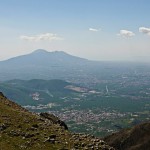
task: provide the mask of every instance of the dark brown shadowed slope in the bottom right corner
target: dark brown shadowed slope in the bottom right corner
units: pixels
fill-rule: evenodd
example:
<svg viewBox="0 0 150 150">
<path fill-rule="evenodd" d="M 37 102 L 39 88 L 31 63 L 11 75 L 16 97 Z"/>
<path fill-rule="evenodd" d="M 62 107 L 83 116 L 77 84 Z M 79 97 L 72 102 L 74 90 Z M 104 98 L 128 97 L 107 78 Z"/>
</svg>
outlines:
<svg viewBox="0 0 150 150">
<path fill-rule="evenodd" d="M 150 122 L 114 133 L 104 140 L 117 150 L 149 150 Z"/>
</svg>

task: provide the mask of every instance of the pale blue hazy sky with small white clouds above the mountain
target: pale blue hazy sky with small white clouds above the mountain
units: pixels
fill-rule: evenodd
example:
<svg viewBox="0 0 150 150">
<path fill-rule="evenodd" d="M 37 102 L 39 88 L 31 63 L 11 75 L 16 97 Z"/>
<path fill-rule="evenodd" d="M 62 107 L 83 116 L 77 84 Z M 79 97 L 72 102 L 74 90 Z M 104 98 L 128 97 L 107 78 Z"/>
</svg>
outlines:
<svg viewBox="0 0 150 150">
<path fill-rule="evenodd" d="M 39 48 L 150 60 L 150 0 L 0 0 L 0 60 Z"/>
</svg>

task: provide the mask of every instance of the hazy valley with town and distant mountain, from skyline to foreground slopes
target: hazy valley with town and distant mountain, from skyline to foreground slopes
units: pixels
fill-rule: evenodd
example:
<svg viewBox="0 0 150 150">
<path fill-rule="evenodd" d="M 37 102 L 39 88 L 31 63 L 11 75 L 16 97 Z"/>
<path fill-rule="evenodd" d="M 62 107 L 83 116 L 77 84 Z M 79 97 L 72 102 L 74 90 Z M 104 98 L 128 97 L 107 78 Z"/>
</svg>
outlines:
<svg viewBox="0 0 150 150">
<path fill-rule="evenodd" d="M 9 99 L 55 114 L 73 132 L 102 137 L 150 118 L 147 63 L 90 61 L 40 49 L 0 67 L 0 89 Z"/>
</svg>

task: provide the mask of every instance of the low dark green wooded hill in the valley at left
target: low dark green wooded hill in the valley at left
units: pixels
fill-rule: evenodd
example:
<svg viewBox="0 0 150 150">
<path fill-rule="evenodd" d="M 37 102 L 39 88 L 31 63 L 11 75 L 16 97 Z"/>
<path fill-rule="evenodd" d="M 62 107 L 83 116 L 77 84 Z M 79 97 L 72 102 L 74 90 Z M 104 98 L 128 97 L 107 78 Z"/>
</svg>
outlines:
<svg viewBox="0 0 150 150">
<path fill-rule="evenodd" d="M 69 83 L 62 80 L 11 80 L 0 83 L 0 90 L 20 105 L 47 104 L 49 101 L 57 101 L 61 96 L 71 94 L 64 87 Z M 39 101 L 33 99 L 33 94 L 39 94 Z"/>
</svg>

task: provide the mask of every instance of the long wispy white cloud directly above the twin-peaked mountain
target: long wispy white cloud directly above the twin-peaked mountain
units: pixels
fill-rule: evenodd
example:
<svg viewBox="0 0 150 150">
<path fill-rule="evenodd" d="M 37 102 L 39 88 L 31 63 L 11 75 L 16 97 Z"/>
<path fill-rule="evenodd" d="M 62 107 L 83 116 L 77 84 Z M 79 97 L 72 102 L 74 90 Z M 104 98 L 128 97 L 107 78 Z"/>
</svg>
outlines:
<svg viewBox="0 0 150 150">
<path fill-rule="evenodd" d="M 35 36 L 22 35 L 20 36 L 20 39 L 26 40 L 26 41 L 34 41 L 34 42 L 63 40 L 63 38 L 58 37 L 57 34 L 53 34 L 53 33 L 45 33 L 45 34 L 39 34 Z"/>
</svg>

